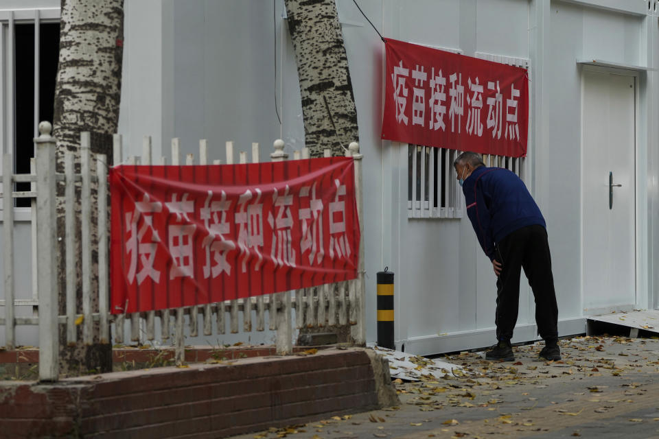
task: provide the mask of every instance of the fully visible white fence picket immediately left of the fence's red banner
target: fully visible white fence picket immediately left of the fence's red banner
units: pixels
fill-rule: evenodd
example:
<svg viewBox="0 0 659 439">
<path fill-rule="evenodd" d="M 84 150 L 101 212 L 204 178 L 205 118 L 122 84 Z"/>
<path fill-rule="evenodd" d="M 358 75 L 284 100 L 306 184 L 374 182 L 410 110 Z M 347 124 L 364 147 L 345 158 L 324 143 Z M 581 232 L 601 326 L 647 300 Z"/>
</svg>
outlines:
<svg viewBox="0 0 659 439">
<path fill-rule="evenodd" d="M 108 293 L 108 158 L 105 154 L 96 157 L 98 181 L 98 313 L 100 314 L 100 342 L 110 342 L 110 296 Z"/>
</svg>

